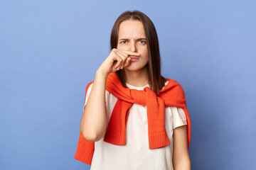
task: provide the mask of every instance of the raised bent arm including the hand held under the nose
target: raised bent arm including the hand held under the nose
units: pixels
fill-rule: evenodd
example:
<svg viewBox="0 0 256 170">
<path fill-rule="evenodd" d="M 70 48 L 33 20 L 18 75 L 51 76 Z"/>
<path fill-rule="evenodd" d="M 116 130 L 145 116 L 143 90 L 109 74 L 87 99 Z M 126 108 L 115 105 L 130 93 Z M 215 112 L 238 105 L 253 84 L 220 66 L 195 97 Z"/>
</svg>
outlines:
<svg viewBox="0 0 256 170">
<path fill-rule="evenodd" d="M 107 130 L 107 108 L 105 90 L 107 76 L 130 64 L 129 55 L 139 56 L 137 52 L 112 49 L 110 55 L 97 69 L 90 96 L 82 114 L 80 131 L 85 140 L 97 142 L 104 137 Z"/>
</svg>

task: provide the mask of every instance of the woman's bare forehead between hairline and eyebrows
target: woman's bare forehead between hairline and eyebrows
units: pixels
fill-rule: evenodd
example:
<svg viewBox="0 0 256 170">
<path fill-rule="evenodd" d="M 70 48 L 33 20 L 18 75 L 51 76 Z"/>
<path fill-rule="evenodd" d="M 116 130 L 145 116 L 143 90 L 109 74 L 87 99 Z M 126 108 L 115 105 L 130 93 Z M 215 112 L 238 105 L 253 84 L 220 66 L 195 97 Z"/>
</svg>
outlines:
<svg viewBox="0 0 256 170">
<path fill-rule="evenodd" d="M 119 38 L 129 38 L 129 37 L 138 37 L 138 38 L 146 38 L 144 26 L 141 21 L 122 21 L 119 26 L 118 31 Z"/>
</svg>

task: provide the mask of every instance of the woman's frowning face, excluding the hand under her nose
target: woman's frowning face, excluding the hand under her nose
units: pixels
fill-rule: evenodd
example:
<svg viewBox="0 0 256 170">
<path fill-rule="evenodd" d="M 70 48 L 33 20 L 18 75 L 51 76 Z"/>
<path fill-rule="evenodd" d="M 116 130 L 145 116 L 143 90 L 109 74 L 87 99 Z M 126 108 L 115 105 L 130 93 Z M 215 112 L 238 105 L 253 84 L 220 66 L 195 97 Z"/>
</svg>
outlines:
<svg viewBox="0 0 256 170">
<path fill-rule="evenodd" d="M 119 26 L 117 50 L 138 52 L 137 60 L 132 59 L 126 70 L 137 71 L 143 69 L 149 62 L 146 47 L 146 35 L 141 21 L 122 21 Z M 131 56 L 132 57 L 132 56 Z"/>
</svg>

